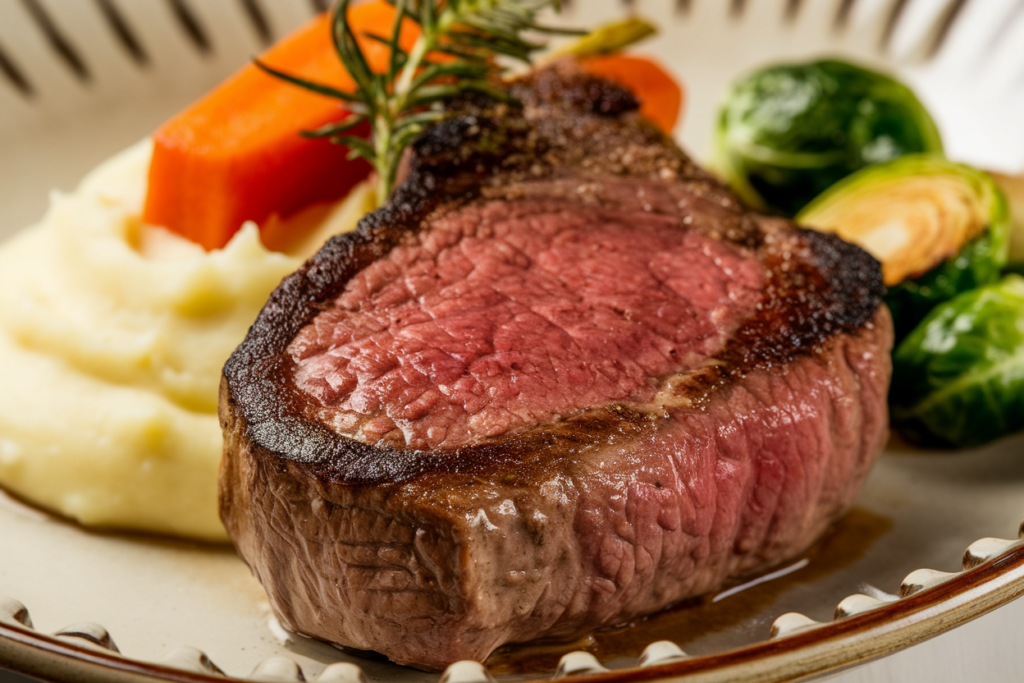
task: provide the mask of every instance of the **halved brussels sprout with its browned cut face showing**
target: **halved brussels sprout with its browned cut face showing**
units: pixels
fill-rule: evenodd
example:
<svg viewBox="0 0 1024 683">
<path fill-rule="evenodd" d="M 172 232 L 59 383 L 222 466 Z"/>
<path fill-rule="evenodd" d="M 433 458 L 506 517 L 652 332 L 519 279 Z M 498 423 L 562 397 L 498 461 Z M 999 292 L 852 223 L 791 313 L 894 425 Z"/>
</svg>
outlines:
<svg viewBox="0 0 1024 683">
<path fill-rule="evenodd" d="M 836 232 L 882 262 L 901 339 L 937 303 L 994 283 L 1010 216 L 992 178 L 934 155 L 870 166 L 827 189 L 797 220 Z"/>
</svg>

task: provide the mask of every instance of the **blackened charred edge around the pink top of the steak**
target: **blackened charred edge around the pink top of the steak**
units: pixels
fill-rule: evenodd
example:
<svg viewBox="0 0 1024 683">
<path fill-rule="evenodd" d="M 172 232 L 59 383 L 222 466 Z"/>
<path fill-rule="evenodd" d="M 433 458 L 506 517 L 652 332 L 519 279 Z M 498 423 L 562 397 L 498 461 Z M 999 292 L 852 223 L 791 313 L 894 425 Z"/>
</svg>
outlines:
<svg viewBox="0 0 1024 683">
<path fill-rule="evenodd" d="M 438 212 L 456 210 L 481 196 L 501 196 L 504 187 L 518 181 L 579 171 L 591 158 L 601 160 L 598 170 L 605 173 L 652 181 L 668 176 L 686 181 L 724 207 L 743 211 L 729 190 L 664 133 L 632 114 L 637 102 L 628 90 L 565 68 L 536 72 L 512 90 L 521 108 L 467 101 L 454 117 L 428 130 L 414 144 L 408 176 L 387 205 L 365 217 L 356 231 L 330 240 L 270 296 L 224 367 L 221 399 L 222 422 L 228 411 L 233 419 L 241 418 L 260 452 L 303 463 L 323 480 L 352 484 L 400 483 L 426 472 L 470 474 L 483 469 L 536 477 L 546 465 L 535 454 L 579 453 L 594 441 L 636 434 L 656 422 L 629 407 L 600 407 L 496 442 L 430 452 L 345 438 L 305 414 L 307 399 L 294 385 L 289 343 L 352 276 L 411 239 L 431 216 L 441 215 Z M 590 126 L 592 133 L 594 125 L 600 134 L 589 134 L 586 144 L 580 143 L 579 129 Z M 636 154 L 631 152 L 631 159 L 623 159 L 618 167 L 609 165 L 607 160 L 623 148 Z M 881 304 L 885 290 L 873 258 L 834 236 L 785 224 L 800 239 L 796 246 L 780 247 L 778 254 L 768 252 L 772 296 L 729 342 L 719 358 L 722 362 L 693 378 L 690 389 L 697 394 L 727 385 L 754 368 L 814 353 L 834 335 L 855 333 Z M 746 229 L 723 239 L 754 248 L 765 236 Z M 799 262 L 805 267 L 771 267 L 772 258 L 791 258 L 794 248 L 804 252 Z M 800 305 L 785 305 L 796 301 Z"/>
</svg>

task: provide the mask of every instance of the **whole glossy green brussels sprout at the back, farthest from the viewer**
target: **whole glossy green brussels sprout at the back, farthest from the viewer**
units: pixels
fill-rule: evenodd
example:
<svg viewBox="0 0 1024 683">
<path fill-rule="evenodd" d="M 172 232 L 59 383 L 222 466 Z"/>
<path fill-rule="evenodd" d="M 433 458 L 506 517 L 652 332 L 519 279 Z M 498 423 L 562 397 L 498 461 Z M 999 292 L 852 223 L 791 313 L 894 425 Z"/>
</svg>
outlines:
<svg viewBox="0 0 1024 683">
<path fill-rule="evenodd" d="M 715 165 L 752 206 L 794 215 L 868 164 L 941 153 L 935 123 L 904 85 L 835 60 L 771 67 L 733 85 Z"/>
</svg>

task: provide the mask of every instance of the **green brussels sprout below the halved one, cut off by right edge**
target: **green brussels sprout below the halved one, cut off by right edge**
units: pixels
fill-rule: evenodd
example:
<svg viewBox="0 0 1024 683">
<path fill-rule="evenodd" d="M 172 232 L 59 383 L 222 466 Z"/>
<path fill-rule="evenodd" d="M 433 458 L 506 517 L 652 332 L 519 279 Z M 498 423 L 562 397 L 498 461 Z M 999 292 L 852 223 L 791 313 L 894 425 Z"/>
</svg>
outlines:
<svg viewBox="0 0 1024 683">
<path fill-rule="evenodd" d="M 1024 429 L 1024 278 L 940 304 L 893 354 L 893 423 L 911 438 L 980 445 Z"/>
</svg>

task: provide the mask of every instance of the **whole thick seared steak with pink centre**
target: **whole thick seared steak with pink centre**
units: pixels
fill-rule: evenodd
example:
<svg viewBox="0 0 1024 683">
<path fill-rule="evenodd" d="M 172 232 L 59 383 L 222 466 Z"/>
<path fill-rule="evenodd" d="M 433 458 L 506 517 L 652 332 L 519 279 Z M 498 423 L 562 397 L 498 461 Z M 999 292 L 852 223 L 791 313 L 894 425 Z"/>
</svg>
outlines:
<svg viewBox="0 0 1024 683">
<path fill-rule="evenodd" d="M 464 102 L 224 368 L 220 509 L 289 630 L 441 669 L 800 554 L 887 436 L 879 264 L 571 62 Z"/>
</svg>

